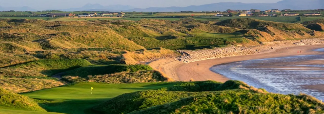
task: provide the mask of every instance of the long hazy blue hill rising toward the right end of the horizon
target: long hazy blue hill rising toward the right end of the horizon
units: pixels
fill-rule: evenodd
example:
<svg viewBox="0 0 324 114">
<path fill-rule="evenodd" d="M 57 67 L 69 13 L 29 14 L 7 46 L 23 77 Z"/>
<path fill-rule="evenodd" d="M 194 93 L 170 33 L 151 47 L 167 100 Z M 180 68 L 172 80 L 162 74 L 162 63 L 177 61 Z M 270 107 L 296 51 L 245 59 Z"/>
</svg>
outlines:
<svg viewBox="0 0 324 114">
<path fill-rule="evenodd" d="M 323 8 L 324 2 L 322 0 L 283 0 L 278 3 L 240 3 L 240 2 L 222 2 L 214 4 L 206 4 L 201 6 L 187 6 L 187 7 L 149 7 L 145 9 L 131 9 L 127 11 L 155 11 L 155 12 L 171 12 L 171 11 L 225 11 L 226 9 L 319 9 Z"/>
</svg>

